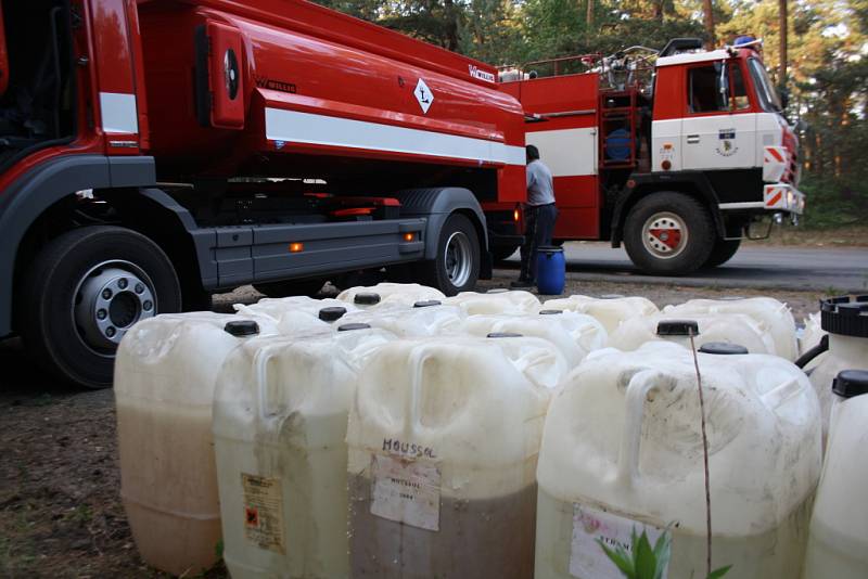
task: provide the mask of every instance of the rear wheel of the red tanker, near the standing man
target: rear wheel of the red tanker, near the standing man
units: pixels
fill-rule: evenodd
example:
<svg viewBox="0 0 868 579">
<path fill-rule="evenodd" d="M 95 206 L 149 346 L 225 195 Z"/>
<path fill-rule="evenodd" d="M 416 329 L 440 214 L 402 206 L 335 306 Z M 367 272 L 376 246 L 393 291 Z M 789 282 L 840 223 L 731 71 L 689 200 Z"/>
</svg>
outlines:
<svg viewBox="0 0 868 579">
<path fill-rule="evenodd" d="M 470 292 L 480 276 L 480 239 L 470 219 L 452 214 L 443 224 L 435 259 L 420 263 L 421 281 L 447 296 Z"/>
</svg>

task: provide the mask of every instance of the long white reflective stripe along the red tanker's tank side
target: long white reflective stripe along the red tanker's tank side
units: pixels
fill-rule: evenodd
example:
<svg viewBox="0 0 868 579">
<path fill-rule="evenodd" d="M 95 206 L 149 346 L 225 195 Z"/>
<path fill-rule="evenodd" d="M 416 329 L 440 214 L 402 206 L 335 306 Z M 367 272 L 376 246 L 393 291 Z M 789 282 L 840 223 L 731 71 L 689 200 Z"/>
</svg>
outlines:
<svg viewBox="0 0 868 579">
<path fill-rule="evenodd" d="M 265 132 L 269 141 L 525 165 L 523 146 L 281 108 L 265 110 Z"/>
</svg>

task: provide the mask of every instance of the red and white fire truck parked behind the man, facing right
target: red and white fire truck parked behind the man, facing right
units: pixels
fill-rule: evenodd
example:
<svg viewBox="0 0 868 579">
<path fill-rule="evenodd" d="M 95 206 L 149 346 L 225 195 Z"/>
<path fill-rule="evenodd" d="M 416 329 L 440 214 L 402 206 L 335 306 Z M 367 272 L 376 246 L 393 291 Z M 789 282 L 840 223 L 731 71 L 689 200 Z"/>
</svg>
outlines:
<svg viewBox="0 0 868 579">
<path fill-rule="evenodd" d="M 679 275 L 727 261 L 766 217 L 803 213 L 797 140 L 761 43 L 735 44 L 681 38 L 501 72 L 554 177 L 556 240 L 623 243 L 640 270 Z M 493 237 L 499 257 L 515 247 Z"/>
</svg>

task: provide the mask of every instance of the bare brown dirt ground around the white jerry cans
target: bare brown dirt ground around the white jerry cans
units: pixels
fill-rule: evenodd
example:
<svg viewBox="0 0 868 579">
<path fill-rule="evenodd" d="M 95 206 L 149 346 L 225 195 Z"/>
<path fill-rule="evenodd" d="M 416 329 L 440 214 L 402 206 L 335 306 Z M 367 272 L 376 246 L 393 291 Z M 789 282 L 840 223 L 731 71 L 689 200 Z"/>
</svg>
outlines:
<svg viewBox="0 0 868 579">
<path fill-rule="evenodd" d="M 480 290 L 505 287 L 514 275 L 496 273 Z M 824 297 L 576 281 L 564 294 L 641 295 L 661 307 L 695 297 L 770 295 L 788 303 L 797 321 Z M 216 296 L 215 309 L 231 311 L 231 304 L 259 297 L 242 288 Z M 0 577 L 163 577 L 139 558 L 118 491 L 112 391 L 58 384 L 25 357 L 18 340 L 0 342 Z"/>
</svg>

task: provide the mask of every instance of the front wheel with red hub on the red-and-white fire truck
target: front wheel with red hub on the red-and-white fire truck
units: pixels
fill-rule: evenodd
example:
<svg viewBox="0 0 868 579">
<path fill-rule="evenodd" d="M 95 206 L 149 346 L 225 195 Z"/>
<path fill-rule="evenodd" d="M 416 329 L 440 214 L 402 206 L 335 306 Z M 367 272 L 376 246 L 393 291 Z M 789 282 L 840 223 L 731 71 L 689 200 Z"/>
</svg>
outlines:
<svg viewBox="0 0 868 579">
<path fill-rule="evenodd" d="M 630 209 L 624 246 L 644 273 L 684 275 L 702 267 L 714 247 L 715 227 L 707 209 L 684 193 L 652 193 Z"/>
</svg>

